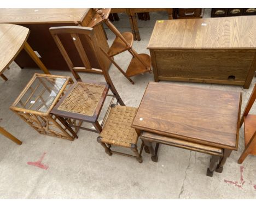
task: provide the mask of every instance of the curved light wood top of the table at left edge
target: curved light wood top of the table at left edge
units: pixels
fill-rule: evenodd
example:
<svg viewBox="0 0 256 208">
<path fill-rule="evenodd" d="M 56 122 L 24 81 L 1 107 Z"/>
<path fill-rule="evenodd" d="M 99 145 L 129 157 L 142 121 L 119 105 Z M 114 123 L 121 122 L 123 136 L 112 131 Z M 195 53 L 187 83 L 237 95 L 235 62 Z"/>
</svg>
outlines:
<svg viewBox="0 0 256 208">
<path fill-rule="evenodd" d="M 30 30 L 12 24 L 0 24 L 0 74 L 20 52 Z"/>
</svg>

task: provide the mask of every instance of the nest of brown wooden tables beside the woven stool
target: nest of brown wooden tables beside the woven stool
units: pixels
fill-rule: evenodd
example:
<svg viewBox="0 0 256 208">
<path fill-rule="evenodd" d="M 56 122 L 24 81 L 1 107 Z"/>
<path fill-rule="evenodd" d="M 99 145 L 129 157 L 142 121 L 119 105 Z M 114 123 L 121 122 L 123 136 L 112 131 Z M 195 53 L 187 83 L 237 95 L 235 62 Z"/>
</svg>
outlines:
<svg viewBox="0 0 256 208">
<path fill-rule="evenodd" d="M 211 155 L 212 176 L 237 150 L 241 99 L 234 91 L 149 82 L 131 126 L 143 131 L 152 161 L 158 161 L 159 143 L 199 151 Z"/>
</svg>

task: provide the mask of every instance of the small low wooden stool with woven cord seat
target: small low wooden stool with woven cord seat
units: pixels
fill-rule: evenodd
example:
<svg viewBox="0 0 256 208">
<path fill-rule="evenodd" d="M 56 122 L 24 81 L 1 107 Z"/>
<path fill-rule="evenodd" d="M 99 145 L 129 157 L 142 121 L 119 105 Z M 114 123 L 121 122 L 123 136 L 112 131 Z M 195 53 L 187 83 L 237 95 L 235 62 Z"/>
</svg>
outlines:
<svg viewBox="0 0 256 208">
<path fill-rule="evenodd" d="M 105 152 L 109 156 L 112 155 L 112 153 L 115 153 L 129 157 L 136 157 L 136 160 L 139 163 L 142 162 L 141 152 L 144 144 L 142 143 L 141 150 L 138 152 L 138 134 L 136 130 L 131 127 L 136 112 L 137 108 L 134 107 L 111 106 L 106 123 L 103 126 L 100 136 L 97 138 L 97 141 L 103 146 Z M 110 149 L 112 145 L 130 148 L 136 156 L 112 151 Z"/>
</svg>

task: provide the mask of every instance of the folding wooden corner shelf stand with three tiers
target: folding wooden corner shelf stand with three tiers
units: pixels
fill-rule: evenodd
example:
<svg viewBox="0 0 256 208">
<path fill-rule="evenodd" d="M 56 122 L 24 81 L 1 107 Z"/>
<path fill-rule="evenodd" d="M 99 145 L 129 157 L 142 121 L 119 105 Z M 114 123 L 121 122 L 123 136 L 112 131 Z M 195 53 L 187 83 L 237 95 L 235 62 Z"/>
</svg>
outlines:
<svg viewBox="0 0 256 208">
<path fill-rule="evenodd" d="M 142 74 L 144 72 L 150 72 L 151 70 L 151 59 L 150 56 L 146 53 L 138 54 L 132 48 L 133 44 L 133 34 L 131 32 L 120 33 L 117 28 L 109 21 L 108 16 L 110 14 L 111 9 L 95 9 L 96 14 L 92 18 L 91 22 L 89 22 L 88 27 L 96 27 L 104 22 L 109 29 L 116 35 L 116 38 L 113 44 L 110 46 L 109 51 L 103 53 L 108 57 L 108 59 L 119 69 L 119 71 L 127 78 L 129 81 L 134 84 L 134 82 L 130 79 L 130 77 Z M 113 57 L 119 53 L 123 53 L 125 51 L 129 51 L 132 55 L 131 62 L 126 70 L 120 68 L 120 66 L 114 61 Z"/>
</svg>

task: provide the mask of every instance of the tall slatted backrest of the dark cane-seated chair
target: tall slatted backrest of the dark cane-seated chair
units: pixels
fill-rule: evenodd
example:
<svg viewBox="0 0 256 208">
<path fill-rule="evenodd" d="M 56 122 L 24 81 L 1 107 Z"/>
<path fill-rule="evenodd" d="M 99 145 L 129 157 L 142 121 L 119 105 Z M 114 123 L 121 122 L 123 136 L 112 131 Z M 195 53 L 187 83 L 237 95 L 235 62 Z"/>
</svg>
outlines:
<svg viewBox="0 0 256 208">
<path fill-rule="evenodd" d="M 75 79 L 77 79 L 77 81 L 82 81 L 77 71 L 75 70 L 92 69 L 89 55 L 92 56 L 92 54 L 94 54 L 94 58 L 97 60 L 97 63 L 100 66 L 101 70 L 100 69 L 93 69 L 93 70 L 102 71 L 102 74 L 104 75 L 104 78 L 106 79 L 107 84 L 109 85 L 115 97 L 117 97 L 118 102 L 120 103 L 120 105 L 124 105 L 124 102 L 121 100 L 108 74 L 108 70 L 106 70 L 102 60 L 99 58 L 101 57 L 100 54 L 104 54 L 104 56 L 106 56 L 106 52 L 98 45 L 97 38 L 94 33 L 94 29 L 89 27 L 65 26 L 65 27 L 51 27 L 49 28 L 49 30 L 51 35 L 53 35 L 53 38 L 57 46 L 59 47 L 59 50 L 63 58 L 66 60 L 66 63 L 69 69 L 71 70 L 73 76 L 75 77 Z M 59 37 L 60 35 L 70 36 L 70 38 L 74 42 L 75 48 L 78 51 L 78 54 L 83 62 L 84 67 L 75 67 L 73 65 L 72 60 L 68 56 L 68 53 L 65 50 L 65 46 L 63 45 Z M 84 44 L 82 44 L 82 41 L 86 42 L 86 50 L 84 48 Z"/>
</svg>

